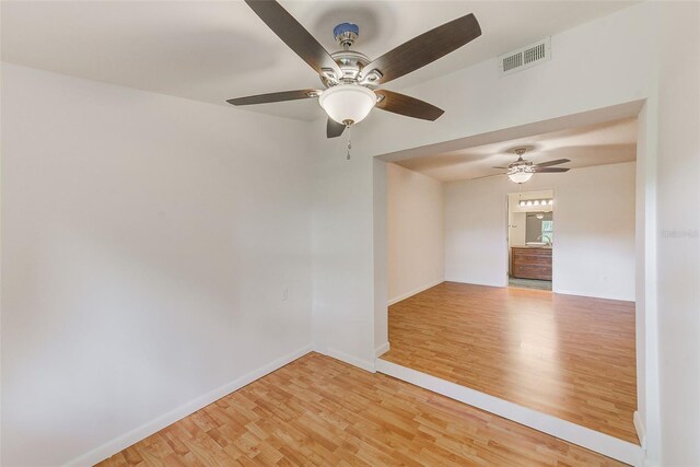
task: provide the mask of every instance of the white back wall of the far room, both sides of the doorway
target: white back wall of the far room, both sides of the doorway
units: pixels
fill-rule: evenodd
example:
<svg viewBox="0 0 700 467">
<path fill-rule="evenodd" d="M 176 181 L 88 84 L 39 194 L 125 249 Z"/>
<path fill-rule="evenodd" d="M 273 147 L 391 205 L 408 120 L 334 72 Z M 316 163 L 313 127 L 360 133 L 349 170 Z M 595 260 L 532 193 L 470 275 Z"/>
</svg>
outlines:
<svg viewBox="0 0 700 467">
<path fill-rule="evenodd" d="M 553 189 L 552 290 L 634 300 L 635 164 L 537 174 L 524 189 Z M 508 284 L 508 177 L 445 184 L 445 279 Z"/>
</svg>

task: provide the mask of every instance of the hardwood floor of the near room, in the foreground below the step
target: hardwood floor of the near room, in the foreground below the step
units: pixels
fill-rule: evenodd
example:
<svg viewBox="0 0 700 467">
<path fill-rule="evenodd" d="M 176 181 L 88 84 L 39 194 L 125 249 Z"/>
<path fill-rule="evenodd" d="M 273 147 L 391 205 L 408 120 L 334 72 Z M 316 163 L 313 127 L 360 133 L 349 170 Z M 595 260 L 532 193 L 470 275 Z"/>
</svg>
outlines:
<svg viewBox="0 0 700 467">
<path fill-rule="evenodd" d="M 408 383 L 311 353 L 100 466 L 620 466 Z"/>
</svg>

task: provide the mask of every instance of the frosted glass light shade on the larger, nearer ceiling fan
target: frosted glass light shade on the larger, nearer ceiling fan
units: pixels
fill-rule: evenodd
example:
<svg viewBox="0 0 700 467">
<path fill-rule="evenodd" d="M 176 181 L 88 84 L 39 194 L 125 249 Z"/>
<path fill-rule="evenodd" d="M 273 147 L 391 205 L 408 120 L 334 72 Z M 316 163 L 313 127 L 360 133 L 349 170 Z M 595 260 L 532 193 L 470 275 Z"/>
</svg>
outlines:
<svg viewBox="0 0 700 467">
<path fill-rule="evenodd" d="M 339 124 L 357 124 L 370 114 L 376 104 L 376 94 L 358 84 L 339 84 L 328 87 L 318 97 L 328 117 Z"/>
</svg>

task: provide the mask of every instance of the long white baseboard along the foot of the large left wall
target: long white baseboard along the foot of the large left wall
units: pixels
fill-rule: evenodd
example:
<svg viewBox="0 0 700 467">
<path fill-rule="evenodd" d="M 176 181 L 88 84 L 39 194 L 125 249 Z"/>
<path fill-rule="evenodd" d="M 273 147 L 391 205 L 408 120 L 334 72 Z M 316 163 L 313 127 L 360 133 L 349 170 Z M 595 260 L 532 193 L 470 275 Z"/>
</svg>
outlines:
<svg viewBox="0 0 700 467">
<path fill-rule="evenodd" d="M 141 440 L 143 440 L 144 437 L 150 436 L 151 434 L 164 429 L 167 425 L 171 425 L 173 423 L 175 423 L 176 421 L 187 417 L 190 413 L 196 412 L 197 410 L 201 409 L 202 407 L 208 406 L 211 402 L 214 402 L 219 399 L 221 399 L 222 397 L 224 397 L 228 394 L 233 393 L 234 390 L 237 390 L 240 388 L 242 388 L 243 386 L 246 386 L 250 383 L 253 383 L 256 380 L 261 378 L 262 376 L 272 373 L 276 370 L 279 370 L 280 367 L 284 366 L 288 363 L 293 362 L 294 360 L 299 359 L 300 357 L 305 355 L 306 353 L 312 351 L 312 346 L 305 346 L 302 347 L 299 350 L 295 350 L 292 353 L 289 353 L 282 358 L 279 358 L 270 363 L 268 363 L 265 366 L 261 366 L 255 371 L 252 371 L 248 374 L 245 374 L 234 381 L 232 381 L 231 383 L 224 384 L 221 387 L 218 387 L 217 389 L 205 394 L 203 396 L 200 396 L 198 398 L 196 398 L 195 400 L 190 400 L 189 402 L 179 406 L 178 408 L 171 410 L 167 413 L 162 415 L 161 417 L 156 418 L 155 420 L 152 420 L 148 423 L 142 424 L 141 427 L 138 427 L 131 431 L 129 431 L 128 433 L 122 434 L 119 437 L 116 437 L 105 444 L 103 444 L 102 446 L 98 446 L 92 451 L 90 451 L 89 453 L 85 453 L 83 455 L 81 455 L 80 457 L 74 458 L 73 460 L 69 462 L 68 464 L 66 464 L 66 466 L 92 466 L 95 465 L 104 459 L 106 459 L 107 457 L 110 457 L 113 455 L 115 455 L 116 453 L 118 453 L 119 451 L 122 451 L 127 447 L 129 447 L 130 445 L 132 445 L 133 443 L 137 443 Z"/>
</svg>

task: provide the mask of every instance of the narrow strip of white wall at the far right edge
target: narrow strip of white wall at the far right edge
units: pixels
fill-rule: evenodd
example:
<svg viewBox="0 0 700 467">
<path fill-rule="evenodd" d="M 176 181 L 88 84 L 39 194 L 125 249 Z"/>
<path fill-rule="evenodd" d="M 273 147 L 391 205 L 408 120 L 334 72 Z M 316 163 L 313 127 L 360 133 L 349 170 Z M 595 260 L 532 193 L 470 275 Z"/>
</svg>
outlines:
<svg viewBox="0 0 700 467">
<path fill-rule="evenodd" d="M 657 166 L 663 465 L 700 463 L 700 3 L 663 8 Z"/>
</svg>

